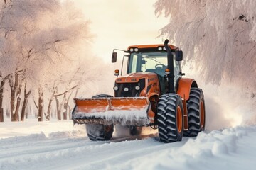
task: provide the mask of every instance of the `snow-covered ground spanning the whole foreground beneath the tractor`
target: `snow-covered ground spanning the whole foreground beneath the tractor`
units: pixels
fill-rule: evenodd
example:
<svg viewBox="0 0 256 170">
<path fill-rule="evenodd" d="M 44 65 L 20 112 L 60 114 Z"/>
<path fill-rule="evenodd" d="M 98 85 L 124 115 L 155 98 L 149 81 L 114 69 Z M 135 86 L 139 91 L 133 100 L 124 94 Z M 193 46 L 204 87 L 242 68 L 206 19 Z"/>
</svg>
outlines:
<svg viewBox="0 0 256 170">
<path fill-rule="evenodd" d="M 0 123 L 0 169 L 255 169 L 256 126 L 206 130 L 181 142 L 142 137 L 92 142 L 72 121 Z"/>
</svg>

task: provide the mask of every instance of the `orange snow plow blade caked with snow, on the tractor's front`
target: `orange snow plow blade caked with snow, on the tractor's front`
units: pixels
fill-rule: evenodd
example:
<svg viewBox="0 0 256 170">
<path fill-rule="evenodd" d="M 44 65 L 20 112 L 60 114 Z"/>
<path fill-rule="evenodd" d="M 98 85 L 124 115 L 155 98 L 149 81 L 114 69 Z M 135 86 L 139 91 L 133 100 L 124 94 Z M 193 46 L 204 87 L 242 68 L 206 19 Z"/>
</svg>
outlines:
<svg viewBox="0 0 256 170">
<path fill-rule="evenodd" d="M 154 122 L 149 99 L 127 98 L 75 98 L 72 113 L 78 124 L 149 125 Z"/>
</svg>

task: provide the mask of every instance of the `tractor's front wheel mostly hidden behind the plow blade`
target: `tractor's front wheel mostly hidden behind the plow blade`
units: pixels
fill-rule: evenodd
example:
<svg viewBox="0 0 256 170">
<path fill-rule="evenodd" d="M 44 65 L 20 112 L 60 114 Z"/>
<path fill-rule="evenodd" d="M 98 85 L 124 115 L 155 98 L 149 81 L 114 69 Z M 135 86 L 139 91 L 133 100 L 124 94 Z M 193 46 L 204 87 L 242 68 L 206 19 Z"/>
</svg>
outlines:
<svg viewBox="0 0 256 170">
<path fill-rule="evenodd" d="M 87 124 L 86 131 L 90 140 L 110 140 L 114 132 L 114 125 Z"/>
</svg>

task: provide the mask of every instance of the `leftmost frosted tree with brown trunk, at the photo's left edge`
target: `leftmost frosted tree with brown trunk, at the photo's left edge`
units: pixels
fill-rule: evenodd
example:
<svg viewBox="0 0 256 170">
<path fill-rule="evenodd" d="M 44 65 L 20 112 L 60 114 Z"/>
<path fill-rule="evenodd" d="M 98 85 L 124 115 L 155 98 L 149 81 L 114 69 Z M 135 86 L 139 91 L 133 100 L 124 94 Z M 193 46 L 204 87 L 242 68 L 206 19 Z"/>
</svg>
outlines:
<svg viewBox="0 0 256 170">
<path fill-rule="evenodd" d="M 19 120 L 19 108 L 21 106 L 21 90 L 26 87 L 26 73 L 38 53 L 42 51 L 36 46 L 38 40 L 33 40 L 36 23 L 41 17 L 41 11 L 54 10 L 52 2 L 55 1 L 4 1 L 1 4 L 1 60 L 4 66 L 2 72 L 6 72 L 10 88 L 10 112 L 11 120 Z M 5 62 L 7 60 L 7 62 Z M 25 86 L 24 86 L 25 82 Z M 24 89 L 23 106 L 30 92 Z"/>
</svg>

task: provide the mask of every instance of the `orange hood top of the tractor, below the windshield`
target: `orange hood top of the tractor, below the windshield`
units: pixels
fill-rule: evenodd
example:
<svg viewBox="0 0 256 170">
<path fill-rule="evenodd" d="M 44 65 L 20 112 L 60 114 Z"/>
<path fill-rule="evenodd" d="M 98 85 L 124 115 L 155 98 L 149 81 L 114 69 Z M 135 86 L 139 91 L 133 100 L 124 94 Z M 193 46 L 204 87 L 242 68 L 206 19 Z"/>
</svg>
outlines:
<svg viewBox="0 0 256 170">
<path fill-rule="evenodd" d="M 146 79 L 146 81 L 155 81 L 157 74 L 151 72 L 137 72 L 126 74 L 124 76 L 118 77 L 116 83 L 137 83 L 140 79 Z"/>
</svg>

